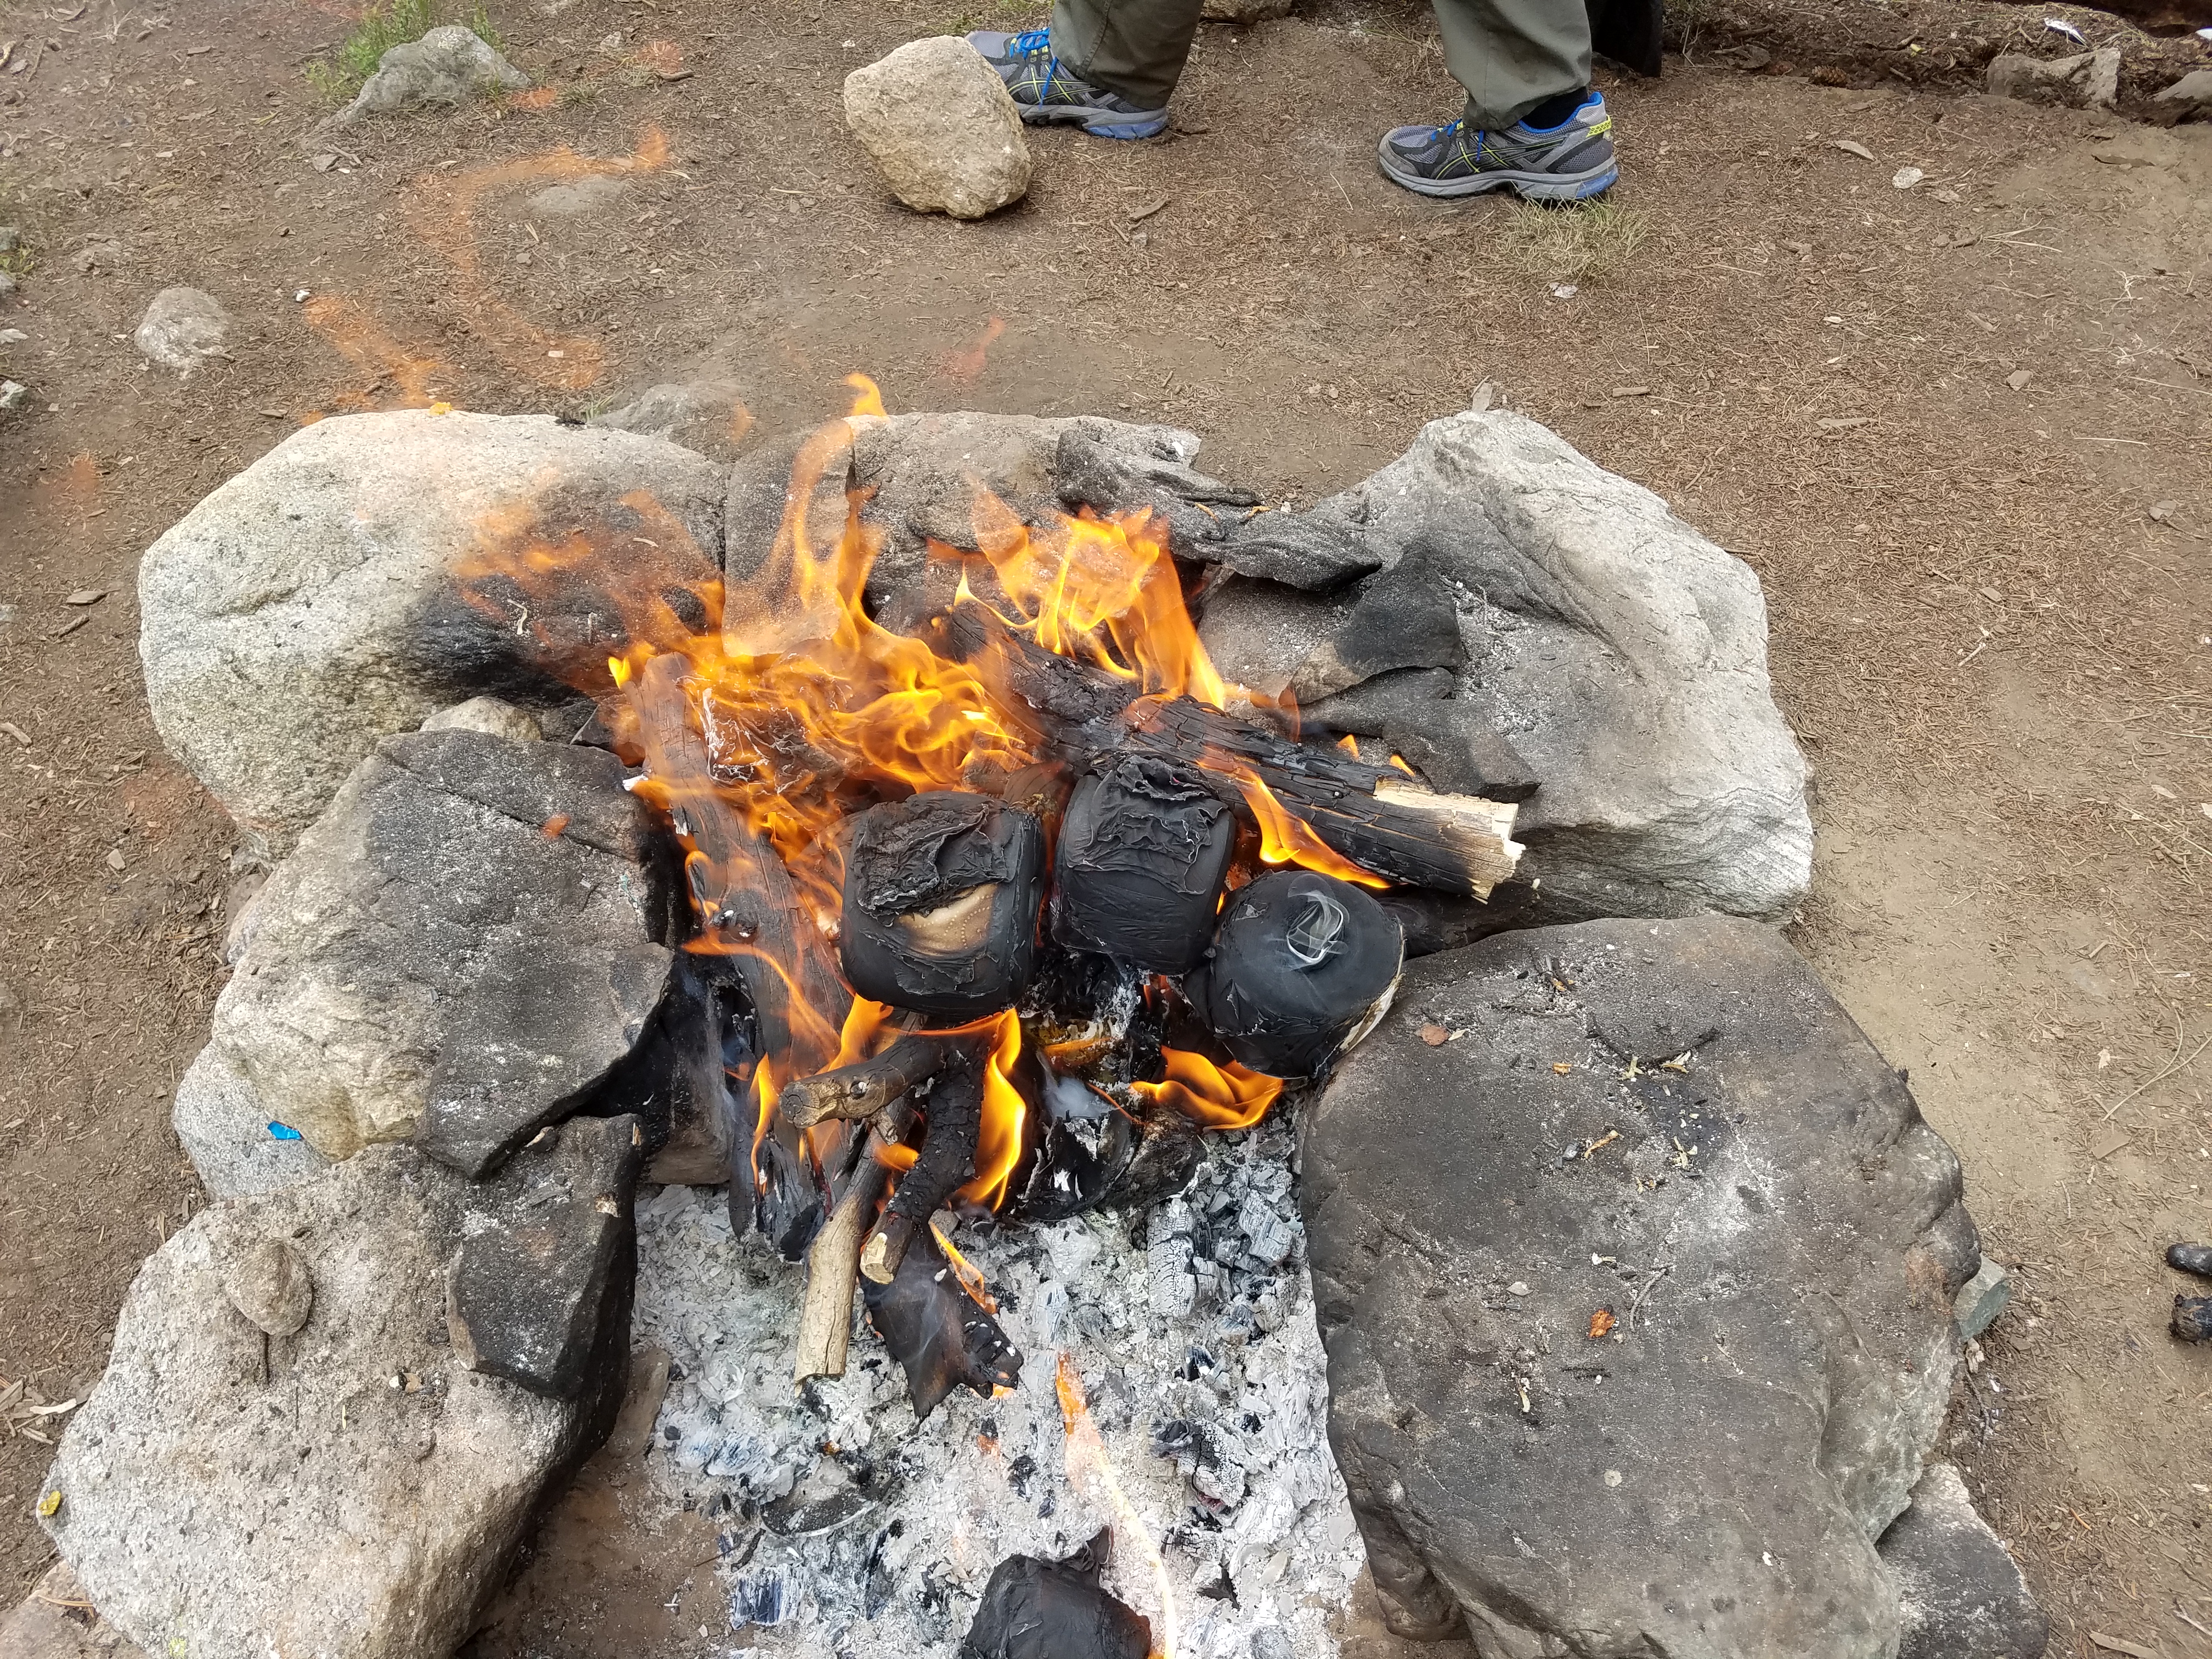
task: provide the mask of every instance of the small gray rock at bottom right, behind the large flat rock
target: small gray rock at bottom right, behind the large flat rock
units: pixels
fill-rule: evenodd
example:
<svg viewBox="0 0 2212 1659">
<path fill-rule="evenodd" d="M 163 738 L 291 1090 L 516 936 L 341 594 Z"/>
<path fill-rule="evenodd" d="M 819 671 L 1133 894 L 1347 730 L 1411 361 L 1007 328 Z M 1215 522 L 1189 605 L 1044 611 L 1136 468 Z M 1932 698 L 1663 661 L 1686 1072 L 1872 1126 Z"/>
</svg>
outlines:
<svg viewBox="0 0 2212 1659">
<path fill-rule="evenodd" d="M 1920 1475 L 1882 1533 L 1882 1564 L 1905 1615 L 1898 1659 L 2042 1659 L 2051 1621 L 1951 1464 Z"/>
</svg>

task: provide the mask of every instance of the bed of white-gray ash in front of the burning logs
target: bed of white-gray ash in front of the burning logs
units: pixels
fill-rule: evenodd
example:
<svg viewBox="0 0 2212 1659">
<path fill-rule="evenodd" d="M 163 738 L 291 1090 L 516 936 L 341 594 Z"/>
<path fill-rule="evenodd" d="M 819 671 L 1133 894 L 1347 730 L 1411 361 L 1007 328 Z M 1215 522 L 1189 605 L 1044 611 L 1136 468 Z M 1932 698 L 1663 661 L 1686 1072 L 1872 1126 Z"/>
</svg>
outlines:
<svg viewBox="0 0 2212 1659">
<path fill-rule="evenodd" d="M 1365 1557 L 1327 1447 L 1285 1117 L 1210 1135 L 1190 1190 L 1148 1217 L 964 1230 L 1022 1385 L 998 1400 L 960 1389 L 922 1425 L 865 1325 L 845 1378 L 792 1387 L 805 1270 L 759 1234 L 732 1239 L 719 1192 L 639 1201 L 635 1340 L 677 1365 L 650 1484 L 717 1520 L 730 1641 L 949 1657 L 1000 1559 L 1068 1555 L 1110 1524 L 1066 1473 L 1066 1352 L 1166 1562 L 1177 1652 L 1334 1659 L 1329 1615 Z M 1121 1528 L 1106 1584 L 1157 1641 L 1159 1595 Z"/>
</svg>

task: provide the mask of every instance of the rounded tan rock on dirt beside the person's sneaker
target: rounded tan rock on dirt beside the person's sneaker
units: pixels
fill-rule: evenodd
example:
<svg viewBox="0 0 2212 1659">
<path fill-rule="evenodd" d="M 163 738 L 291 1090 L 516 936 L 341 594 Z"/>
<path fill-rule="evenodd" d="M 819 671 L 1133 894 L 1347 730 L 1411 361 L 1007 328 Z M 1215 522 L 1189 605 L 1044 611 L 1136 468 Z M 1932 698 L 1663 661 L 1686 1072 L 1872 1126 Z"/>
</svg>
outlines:
<svg viewBox="0 0 2212 1659">
<path fill-rule="evenodd" d="M 1022 115 L 958 35 L 911 40 L 852 71 L 845 124 L 916 212 L 982 219 L 1029 190 Z"/>
</svg>

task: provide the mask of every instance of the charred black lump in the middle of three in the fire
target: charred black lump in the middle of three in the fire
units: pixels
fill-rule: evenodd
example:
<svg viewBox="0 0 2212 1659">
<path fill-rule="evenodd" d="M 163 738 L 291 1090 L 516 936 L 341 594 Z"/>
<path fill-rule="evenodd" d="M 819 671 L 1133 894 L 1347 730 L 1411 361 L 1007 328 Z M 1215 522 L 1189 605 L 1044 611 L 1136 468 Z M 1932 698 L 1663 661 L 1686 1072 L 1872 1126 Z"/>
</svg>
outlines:
<svg viewBox="0 0 2212 1659">
<path fill-rule="evenodd" d="M 1192 770 L 1128 757 L 1075 785 L 1053 863 L 1053 936 L 1155 973 L 1206 960 L 1237 816 Z"/>
</svg>

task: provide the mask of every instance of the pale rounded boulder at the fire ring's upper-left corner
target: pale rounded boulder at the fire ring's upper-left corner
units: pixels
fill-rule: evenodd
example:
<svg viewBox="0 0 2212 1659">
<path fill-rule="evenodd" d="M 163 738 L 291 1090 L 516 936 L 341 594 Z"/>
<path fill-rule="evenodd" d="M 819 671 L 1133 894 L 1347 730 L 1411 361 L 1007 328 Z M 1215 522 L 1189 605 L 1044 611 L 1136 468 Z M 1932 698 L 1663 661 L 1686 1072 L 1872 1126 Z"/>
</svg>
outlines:
<svg viewBox="0 0 2212 1659">
<path fill-rule="evenodd" d="M 712 580 L 721 498 L 703 456 L 551 416 L 319 420 L 146 551 L 155 728 L 281 856 L 376 739 L 478 692 L 546 701 L 553 677 L 604 672 L 622 595 Z M 588 557 L 524 595 L 498 573 L 531 549 Z"/>
</svg>

